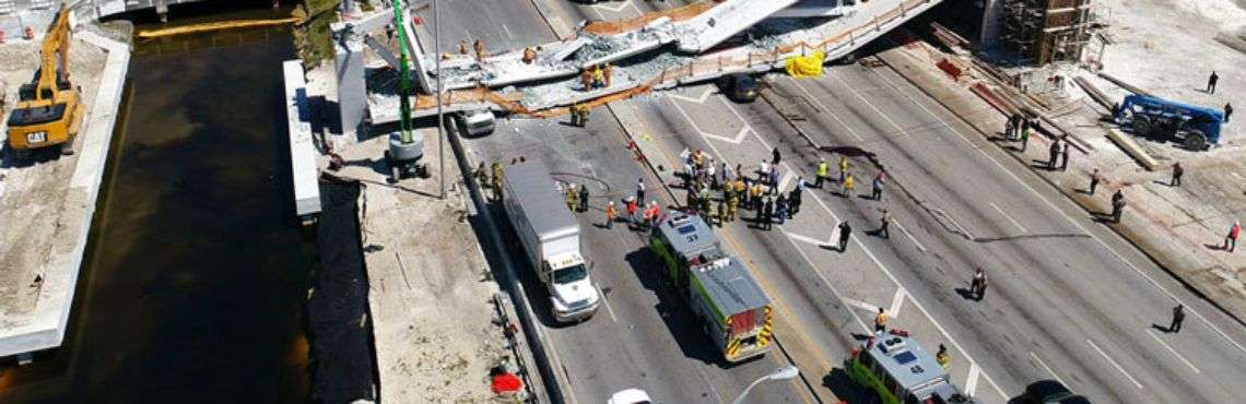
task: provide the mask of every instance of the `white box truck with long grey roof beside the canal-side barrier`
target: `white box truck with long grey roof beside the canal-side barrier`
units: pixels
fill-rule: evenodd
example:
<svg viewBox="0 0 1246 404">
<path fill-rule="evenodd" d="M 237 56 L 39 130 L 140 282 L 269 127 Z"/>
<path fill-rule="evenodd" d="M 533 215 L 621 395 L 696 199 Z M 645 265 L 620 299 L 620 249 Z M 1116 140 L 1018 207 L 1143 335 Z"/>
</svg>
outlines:
<svg viewBox="0 0 1246 404">
<path fill-rule="evenodd" d="M 601 296 L 579 252 L 579 223 L 558 198 L 557 183 L 536 162 L 507 165 L 502 178 L 506 215 L 549 292 L 553 318 L 573 322 L 592 317 Z"/>
</svg>

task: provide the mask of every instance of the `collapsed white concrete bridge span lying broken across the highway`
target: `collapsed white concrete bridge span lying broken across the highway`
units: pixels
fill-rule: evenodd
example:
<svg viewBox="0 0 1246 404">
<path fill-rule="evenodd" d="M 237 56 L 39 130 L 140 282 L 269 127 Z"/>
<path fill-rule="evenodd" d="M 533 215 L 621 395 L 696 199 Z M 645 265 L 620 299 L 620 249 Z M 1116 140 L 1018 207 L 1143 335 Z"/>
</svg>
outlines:
<svg viewBox="0 0 1246 404">
<path fill-rule="evenodd" d="M 431 93 L 439 83 L 445 91 L 441 99 L 447 112 L 492 108 L 546 117 L 566 113 L 564 107 L 571 104 L 599 104 L 726 73 L 773 71 L 782 68 L 791 57 L 815 52 L 831 61 L 938 2 L 703 1 L 634 20 L 582 26 L 573 39 L 533 44 L 532 60 L 525 60 L 525 48 L 481 58 L 459 52 L 434 55 L 415 39 L 414 20 L 404 19 L 409 25 L 404 30 L 409 35 L 409 52 L 415 55 L 412 75 L 427 94 L 416 97 L 415 116 L 436 113 Z M 334 26 L 344 132 L 354 132 L 365 122 L 383 124 L 399 118 L 396 70 L 381 58 L 365 62 L 363 57 L 361 36 L 383 30 L 388 21 L 384 15 L 370 15 Z M 437 57 L 440 75 L 435 66 Z M 584 88 L 581 72 L 604 63 L 612 65 L 609 86 Z"/>
</svg>

